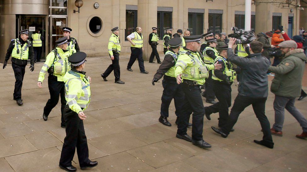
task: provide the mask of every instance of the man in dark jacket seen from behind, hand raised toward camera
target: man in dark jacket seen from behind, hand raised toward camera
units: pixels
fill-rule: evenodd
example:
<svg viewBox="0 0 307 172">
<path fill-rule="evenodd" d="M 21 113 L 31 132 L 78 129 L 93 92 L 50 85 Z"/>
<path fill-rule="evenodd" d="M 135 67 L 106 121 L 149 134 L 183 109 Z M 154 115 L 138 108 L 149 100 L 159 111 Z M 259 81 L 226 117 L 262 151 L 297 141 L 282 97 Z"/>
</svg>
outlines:
<svg viewBox="0 0 307 172">
<path fill-rule="evenodd" d="M 226 125 L 220 129 L 215 127 L 211 128 L 226 138 L 236 124 L 240 113 L 246 107 L 252 105 L 263 130 L 263 139 L 261 141 L 254 140 L 254 142 L 272 149 L 274 143 L 270 131 L 270 122 L 265 116 L 265 102 L 268 96 L 268 77 L 266 72 L 269 69 L 270 62 L 261 55 L 261 42 L 251 42 L 249 49 L 250 55 L 242 58 L 233 53 L 232 46 L 235 44 L 235 41 L 235 38 L 230 39 L 227 56 L 232 63 L 242 68 L 242 80 L 238 87 L 239 93 L 233 103 Z"/>
</svg>

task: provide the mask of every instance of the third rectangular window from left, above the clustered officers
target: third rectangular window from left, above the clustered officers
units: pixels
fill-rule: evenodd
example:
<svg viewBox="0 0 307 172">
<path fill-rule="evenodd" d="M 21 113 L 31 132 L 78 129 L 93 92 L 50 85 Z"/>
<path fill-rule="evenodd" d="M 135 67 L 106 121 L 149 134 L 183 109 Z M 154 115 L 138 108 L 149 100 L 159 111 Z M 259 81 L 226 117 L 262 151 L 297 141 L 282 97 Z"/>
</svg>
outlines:
<svg viewBox="0 0 307 172">
<path fill-rule="evenodd" d="M 188 31 L 191 35 L 201 35 L 204 32 L 204 13 L 188 13 Z"/>
</svg>

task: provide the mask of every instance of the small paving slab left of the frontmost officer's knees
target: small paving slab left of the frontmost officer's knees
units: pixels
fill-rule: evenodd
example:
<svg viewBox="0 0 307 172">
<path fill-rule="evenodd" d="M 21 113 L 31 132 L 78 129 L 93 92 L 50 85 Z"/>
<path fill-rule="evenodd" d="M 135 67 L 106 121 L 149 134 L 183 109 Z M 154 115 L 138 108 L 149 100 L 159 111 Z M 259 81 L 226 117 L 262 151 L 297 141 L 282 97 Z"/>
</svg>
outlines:
<svg viewBox="0 0 307 172">
<path fill-rule="evenodd" d="M 33 133 L 25 135 L 37 149 L 46 149 L 62 145 L 63 143 L 49 132 Z"/>
</svg>

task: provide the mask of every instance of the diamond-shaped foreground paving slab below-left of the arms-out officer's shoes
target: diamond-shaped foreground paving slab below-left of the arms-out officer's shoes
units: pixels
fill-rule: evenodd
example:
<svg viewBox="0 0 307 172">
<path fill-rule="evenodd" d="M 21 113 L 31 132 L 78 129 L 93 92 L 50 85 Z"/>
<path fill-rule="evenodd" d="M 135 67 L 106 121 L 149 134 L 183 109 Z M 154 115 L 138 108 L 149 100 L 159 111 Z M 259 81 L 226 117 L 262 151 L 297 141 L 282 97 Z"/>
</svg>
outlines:
<svg viewBox="0 0 307 172">
<path fill-rule="evenodd" d="M 148 144 L 126 152 L 134 157 L 142 159 L 145 163 L 154 168 L 159 168 L 193 156 L 190 152 L 178 149 L 163 141 Z"/>
</svg>

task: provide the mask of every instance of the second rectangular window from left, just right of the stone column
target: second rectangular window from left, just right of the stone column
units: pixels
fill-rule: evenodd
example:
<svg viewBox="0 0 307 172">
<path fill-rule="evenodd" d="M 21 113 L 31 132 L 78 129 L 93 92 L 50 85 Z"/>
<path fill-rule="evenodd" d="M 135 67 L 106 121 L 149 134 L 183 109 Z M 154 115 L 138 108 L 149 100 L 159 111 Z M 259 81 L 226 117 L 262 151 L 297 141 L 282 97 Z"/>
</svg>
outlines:
<svg viewBox="0 0 307 172">
<path fill-rule="evenodd" d="M 163 39 L 165 28 L 172 27 L 172 12 L 170 11 L 158 11 L 157 12 L 157 33 L 160 40 Z"/>
</svg>

